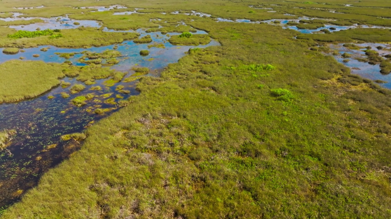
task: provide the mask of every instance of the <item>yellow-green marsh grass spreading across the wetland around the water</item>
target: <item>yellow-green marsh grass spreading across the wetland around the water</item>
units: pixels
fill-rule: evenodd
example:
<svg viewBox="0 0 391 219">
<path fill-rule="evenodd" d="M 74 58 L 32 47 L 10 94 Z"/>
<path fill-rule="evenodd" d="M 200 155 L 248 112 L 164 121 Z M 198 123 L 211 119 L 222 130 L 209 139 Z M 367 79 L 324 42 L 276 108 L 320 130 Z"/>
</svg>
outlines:
<svg viewBox="0 0 391 219">
<path fill-rule="evenodd" d="M 34 11 L 29 16 L 65 13 L 61 5 L 103 4 L 64 2 L 36 1 L 36 6 L 50 5 L 51 10 L 31 9 Z M 87 129 L 81 150 L 45 173 L 38 186 L 0 218 L 391 217 L 391 91 L 350 74 L 350 69 L 333 57 L 308 49 L 318 46 L 316 41 L 387 41 L 389 30 L 299 35 L 263 23 L 213 20 L 292 18 L 285 13 L 295 13 L 390 25 L 391 20 L 378 18 L 386 16 L 386 11 L 373 8 L 373 14 L 369 14 L 372 8 L 367 7 L 391 7 L 389 2 L 110 3 L 144 8 L 151 14 L 118 17 L 112 15 L 113 11 L 81 9 L 81 14 L 71 8 L 75 14 L 70 17 L 97 19 L 118 30 L 158 28 L 162 23 L 150 19 L 183 21 L 207 31 L 208 37 L 222 46 L 190 49 L 160 77 L 137 77 L 141 94 Z M 27 3 L 8 2 L 0 11 L 12 11 L 10 7 L 15 4 L 23 7 Z M 249 5 L 273 7 L 277 12 Z M 345 9 L 346 14 L 328 11 Z M 197 10 L 212 14 L 212 18 L 169 13 L 178 10 Z M 169 31 L 174 29 L 173 25 L 167 26 Z M 83 31 L 101 34 L 97 30 Z M 68 33 L 62 32 L 64 36 Z M 74 41 L 64 45 L 105 42 L 88 41 L 88 34 L 83 34 L 84 38 L 73 36 Z M 177 35 L 172 37 L 179 39 Z M 31 39 L 25 43 L 27 40 Z M 12 66 L 33 69 L 36 65 L 45 69 L 39 79 L 46 81 L 45 89 L 58 84 L 58 78 L 65 74 L 79 74 L 78 79 L 84 81 L 106 72 L 92 65 L 83 74 L 71 67 L 63 73 L 61 65 L 10 61 L 0 65 L 8 69 L 0 74 L 15 72 L 2 74 L 2 78 L 14 81 L 5 80 L 7 84 L 0 87 L 0 92 L 18 92 L 15 84 L 20 83 L 14 75 L 23 73 Z"/>
</svg>

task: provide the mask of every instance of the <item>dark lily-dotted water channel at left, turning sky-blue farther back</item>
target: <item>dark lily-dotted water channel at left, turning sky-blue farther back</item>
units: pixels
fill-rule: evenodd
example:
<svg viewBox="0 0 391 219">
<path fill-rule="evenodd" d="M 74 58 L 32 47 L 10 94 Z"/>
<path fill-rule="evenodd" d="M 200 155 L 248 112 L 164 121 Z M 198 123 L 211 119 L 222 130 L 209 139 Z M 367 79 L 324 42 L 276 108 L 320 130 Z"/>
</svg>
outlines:
<svg viewBox="0 0 391 219">
<path fill-rule="evenodd" d="M 141 36 L 145 35 L 145 32 L 140 31 L 140 33 Z M 204 32 L 200 31 L 199 33 Z M 149 69 L 152 69 L 151 74 L 156 75 L 167 64 L 177 62 L 189 48 L 195 47 L 171 45 L 168 42 L 169 36 L 160 33 L 150 33 L 150 35 L 153 39 L 150 44 L 161 43 L 164 44 L 165 48 L 148 48 L 150 44 L 135 44 L 132 41 L 126 41 L 121 45 L 117 45 L 117 50 L 122 53 L 123 57 L 117 58 L 120 62 L 111 68 L 127 72 L 124 78 L 134 73 L 131 68 L 135 66 L 149 67 Z M 216 46 L 219 43 L 212 41 L 208 45 L 197 47 L 204 48 L 213 45 Z M 113 46 L 89 49 L 40 46 L 39 48 L 26 48 L 24 53 L 20 52 L 16 55 L 0 53 L 0 62 L 25 57 L 24 60 L 62 63 L 66 59 L 54 53 L 74 53 L 86 50 L 100 53 L 106 49 L 113 49 Z M 41 48 L 45 47 L 50 47 L 50 49 L 46 52 L 40 51 Z M 140 56 L 139 52 L 142 49 L 148 49 L 150 54 L 146 57 Z M 39 54 L 40 56 L 34 58 L 32 57 L 33 54 Z M 82 54 L 77 54 L 69 60 L 73 64 L 79 65 L 78 59 L 81 56 Z M 65 78 L 63 80 L 71 82 L 72 85 L 82 84 L 76 81 L 75 78 Z M 62 135 L 82 132 L 97 120 L 117 111 L 118 105 L 116 103 L 120 99 L 127 99 L 130 95 L 138 94 L 135 90 L 135 81 L 121 81 L 115 84 L 106 83 L 107 81 L 109 81 L 109 78 L 96 80 L 95 84 L 86 85 L 86 89 L 77 94 L 70 94 L 69 87 L 62 88 L 59 86 L 34 99 L 18 103 L 0 104 L 0 130 L 15 129 L 17 132 L 7 150 L 0 152 L 0 213 L 19 200 L 24 191 L 36 185 L 42 173 L 61 162 L 80 147 L 80 143 L 77 141 L 62 141 L 60 138 Z M 90 90 L 92 86 L 97 85 L 102 90 Z M 122 94 L 115 90 L 118 85 L 124 86 L 124 90 L 129 90 L 130 94 Z M 64 99 L 61 97 L 61 92 L 70 94 L 70 97 Z M 77 107 L 71 103 L 73 98 L 86 94 L 94 95 L 92 99 L 86 101 L 86 105 Z M 49 96 L 54 96 L 54 98 L 48 99 Z M 114 98 L 115 101 L 108 102 L 107 100 L 110 98 Z M 94 110 L 97 108 L 107 109 L 108 112 L 96 114 Z"/>
</svg>

